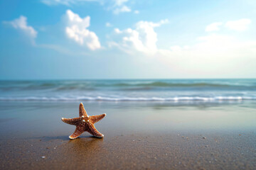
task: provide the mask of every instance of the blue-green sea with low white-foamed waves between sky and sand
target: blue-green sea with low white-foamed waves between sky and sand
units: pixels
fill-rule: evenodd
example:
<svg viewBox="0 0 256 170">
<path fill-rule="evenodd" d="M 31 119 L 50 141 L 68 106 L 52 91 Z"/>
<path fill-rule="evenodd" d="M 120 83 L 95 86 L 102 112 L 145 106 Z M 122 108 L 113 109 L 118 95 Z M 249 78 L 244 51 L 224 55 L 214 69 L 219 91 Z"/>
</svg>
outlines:
<svg viewBox="0 0 256 170">
<path fill-rule="evenodd" d="M 256 79 L 0 81 L 1 101 L 255 101 Z"/>
</svg>

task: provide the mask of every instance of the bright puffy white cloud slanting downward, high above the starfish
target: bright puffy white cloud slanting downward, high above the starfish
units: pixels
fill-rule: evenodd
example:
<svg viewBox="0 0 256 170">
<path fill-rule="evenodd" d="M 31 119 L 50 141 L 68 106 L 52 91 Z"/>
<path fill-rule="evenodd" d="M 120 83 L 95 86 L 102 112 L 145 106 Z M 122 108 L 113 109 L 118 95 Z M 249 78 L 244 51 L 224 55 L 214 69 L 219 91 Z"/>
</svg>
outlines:
<svg viewBox="0 0 256 170">
<path fill-rule="evenodd" d="M 80 18 L 76 13 L 67 10 L 65 13 L 66 28 L 65 33 L 68 38 L 75 40 L 80 45 L 87 45 L 90 50 L 97 50 L 100 48 L 100 41 L 97 35 L 87 30 L 90 26 L 90 16 Z"/>
</svg>

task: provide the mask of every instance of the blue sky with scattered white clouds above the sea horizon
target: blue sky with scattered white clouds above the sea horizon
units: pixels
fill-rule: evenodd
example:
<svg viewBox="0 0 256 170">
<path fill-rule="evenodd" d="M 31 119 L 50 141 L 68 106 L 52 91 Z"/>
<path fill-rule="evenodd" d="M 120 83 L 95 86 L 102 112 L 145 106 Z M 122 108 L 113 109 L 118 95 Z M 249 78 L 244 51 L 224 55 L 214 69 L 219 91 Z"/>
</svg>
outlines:
<svg viewBox="0 0 256 170">
<path fill-rule="evenodd" d="M 256 1 L 0 1 L 0 79 L 256 78 Z"/>
</svg>

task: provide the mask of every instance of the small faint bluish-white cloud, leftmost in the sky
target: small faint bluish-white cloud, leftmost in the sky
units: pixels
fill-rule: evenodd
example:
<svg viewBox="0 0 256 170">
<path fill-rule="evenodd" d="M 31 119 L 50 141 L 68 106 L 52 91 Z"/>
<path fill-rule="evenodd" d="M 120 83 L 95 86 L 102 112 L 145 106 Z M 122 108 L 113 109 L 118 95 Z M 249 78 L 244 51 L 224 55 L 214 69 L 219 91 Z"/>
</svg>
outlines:
<svg viewBox="0 0 256 170">
<path fill-rule="evenodd" d="M 14 19 L 14 21 L 4 21 L 4 23 L 10 24 L 14 28 L 21 30 L 30 38 L 36 38 L 37 31 L 32 26 L 28 26 L 26 16 L 20 16 L 19 18 Z"/>
</svg>

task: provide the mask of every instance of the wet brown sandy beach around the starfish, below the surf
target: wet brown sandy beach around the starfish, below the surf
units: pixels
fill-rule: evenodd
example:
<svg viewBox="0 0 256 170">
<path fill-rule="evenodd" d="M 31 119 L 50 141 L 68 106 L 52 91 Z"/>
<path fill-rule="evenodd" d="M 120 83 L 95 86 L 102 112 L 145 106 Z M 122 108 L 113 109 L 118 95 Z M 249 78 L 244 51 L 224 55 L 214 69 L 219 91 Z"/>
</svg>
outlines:
<svg viewBox="0 0 256 170">
<path fill-rule="evenodd" d="M 1 169 L 256 167 L 255 103 L 83 103 L 104 138 L 68 138 L 79 101 L 0 102 Z"/>
</svg>

